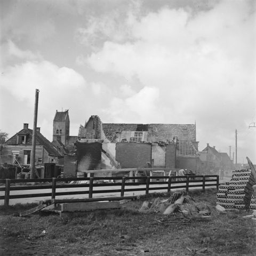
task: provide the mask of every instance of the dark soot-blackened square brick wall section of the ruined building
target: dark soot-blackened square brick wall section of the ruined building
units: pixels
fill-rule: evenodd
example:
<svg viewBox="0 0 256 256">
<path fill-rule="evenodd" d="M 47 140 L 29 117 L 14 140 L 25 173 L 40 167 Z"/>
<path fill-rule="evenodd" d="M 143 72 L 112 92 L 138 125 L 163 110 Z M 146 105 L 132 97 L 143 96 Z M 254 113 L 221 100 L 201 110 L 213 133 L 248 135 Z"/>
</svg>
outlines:
<svg viewBox="0 0 256 256">
<path fill-rule="evenodd" d="M 76 142 L 77 171 L 101 169 L 100 142 Z"/>
</svg>

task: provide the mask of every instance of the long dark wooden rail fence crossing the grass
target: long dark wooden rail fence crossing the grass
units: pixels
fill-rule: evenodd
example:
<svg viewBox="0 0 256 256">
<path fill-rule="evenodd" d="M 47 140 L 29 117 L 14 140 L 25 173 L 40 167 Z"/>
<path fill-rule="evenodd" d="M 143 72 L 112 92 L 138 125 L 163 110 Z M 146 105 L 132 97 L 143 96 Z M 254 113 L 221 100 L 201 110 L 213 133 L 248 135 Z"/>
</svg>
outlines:
<svg viewBox="0 0 256 256">
<path fill-rule="evenodd" d="M 152 181 L 156 179 L 163 179 L 164 181 Z M 117 180 L 115 183 L 98 183 L 103 180 Z M 126 182 L 132 180 L 132 182 Z M 138 180 L 138 182 L 133 182 Z M 142 180 L 142 181 L 141 181 Z M 88 183 L 69 183 L 63 182 L 70 181 L 87 181 Z M 40 185 L 19 185 L 11 186 L 15 183 L 27 183 L 27 182 L 50 182 Z M 96 182 L 96 183 L 95 183 Z M 146 195 L 150 190 L 167 190 L 185 188 L 189 191 L 189 188 L 202 187 L 203 192 L 205 187 L 216 186 L 219 189 L 219 175 L 195 175 L 193 178 L 190 176 L 141 176 L 141 177 L 86 177 L 86 178 L 52 178 L 52 179 L 5 179 L 0 180 L 0 183 L 5 183 L 5 186 L 0 187 L 0 191 L 4 191 L 4 196 L 0 196 L 0 200 L 4 200 L 5 205 L 9 205 L 10 199 L 15 198 L 30 198 L 30 197 L 51 197 L 55 199 L 56 196 L 66 195 L 88 195 L 89 198 L 93 197 L 93 194 L 109 194 L 109 193 L 121 193 L 121 198 L 124 197 L 125 192 L 145 191 Z M 146 187 L 129 188 L 131 186 L 146 185 Z M 152 185 L 166 185 L 163 187 Z M 117 189 L 103 189 L 94 190 L 95 187 L 117 187 Z M 82 191 L 65 191 L 58 192 L 60 188 L 87 188 Z M 51 193 L 35 193 L 35 194 L 20 194 L 11 195 L 11 191 L 19 190 L 41 190 L 51 189 Z M 100 201 L 101 198 L 99 198 Z"/>
</svg>

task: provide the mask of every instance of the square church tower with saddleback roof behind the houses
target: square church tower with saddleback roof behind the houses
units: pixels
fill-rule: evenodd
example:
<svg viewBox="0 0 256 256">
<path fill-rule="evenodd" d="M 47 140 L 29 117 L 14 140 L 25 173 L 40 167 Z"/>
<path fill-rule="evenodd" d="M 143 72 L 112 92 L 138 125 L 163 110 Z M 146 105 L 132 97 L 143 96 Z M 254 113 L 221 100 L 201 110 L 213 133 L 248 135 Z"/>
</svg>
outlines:
<svg viewBox="0 0 256 256">
<path fill-rule="evenodd" d="M 58 112 L 56 110 L 53 119 L 53 141 L 61 141 L 64 145 L 67 144 L 69 137 L 69 116 L 68 110 Z"/>
</svg>

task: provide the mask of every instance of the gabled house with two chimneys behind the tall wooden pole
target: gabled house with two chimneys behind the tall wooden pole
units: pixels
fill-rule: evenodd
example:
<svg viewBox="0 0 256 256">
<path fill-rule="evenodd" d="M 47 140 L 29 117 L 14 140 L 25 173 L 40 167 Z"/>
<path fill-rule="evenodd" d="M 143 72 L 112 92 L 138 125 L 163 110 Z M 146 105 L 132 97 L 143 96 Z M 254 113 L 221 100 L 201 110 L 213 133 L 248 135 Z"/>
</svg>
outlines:
<svg viewBox="0 0 256 256">
<path fill-rule="evenodd" d="M 23 124 L 23 129 L 7 140 L 1 151 L 0 163 L 30 165 L 33 130 L 28 124 Z M 63 155 L 59 153 L 52 143 L 47 140 L 37 128 L 35 164 L 59 163 L 63 161 Z"/>
</svg>

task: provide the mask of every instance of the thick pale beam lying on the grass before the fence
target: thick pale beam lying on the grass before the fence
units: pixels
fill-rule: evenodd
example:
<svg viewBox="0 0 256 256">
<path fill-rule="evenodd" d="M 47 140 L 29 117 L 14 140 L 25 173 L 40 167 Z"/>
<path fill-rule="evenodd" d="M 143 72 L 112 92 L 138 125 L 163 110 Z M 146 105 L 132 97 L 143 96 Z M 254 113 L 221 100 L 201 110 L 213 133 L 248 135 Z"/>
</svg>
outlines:
<svg viewBox="0 0 256 256">
<path fill-rule="evenodd" d="M 119 209 L 120 202 L 87 202 L 87 203 L 63 203 L 61 204 L 61 211 L 75 212 L 75 211 L 92 211 L 100 209 Z"/>
</svg>

